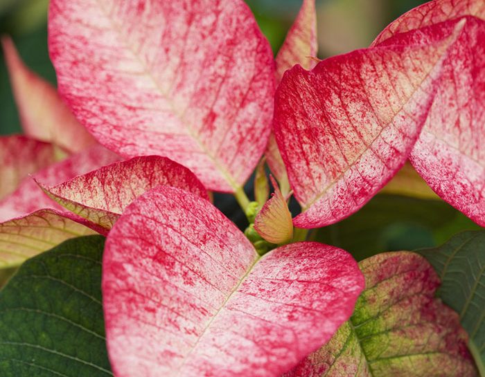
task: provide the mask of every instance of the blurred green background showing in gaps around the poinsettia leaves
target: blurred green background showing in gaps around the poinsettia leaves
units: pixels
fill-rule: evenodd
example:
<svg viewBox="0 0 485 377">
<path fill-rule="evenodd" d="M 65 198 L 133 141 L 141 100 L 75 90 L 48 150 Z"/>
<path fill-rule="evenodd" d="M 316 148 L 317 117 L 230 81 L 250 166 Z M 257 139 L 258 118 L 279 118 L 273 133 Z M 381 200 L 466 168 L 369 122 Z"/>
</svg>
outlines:
<svg viewBox="0 0 485 377">
<path fill-rule="evenodd" d="M 369 46 L 389 22 L 423 2 L 317 0 L 319 57 Z M 247 0 L 247 3 L 276 52 L 301 0 Z M 47 7 L 48 0 L 0 0 L 0 33 L 12 35 L 26 64 L 55 83 L 47 53 Z M 0 61 L 0 134 L 11 134 L 20 131 L 19 119 L 3 56 Z M 248 192 L 252 190 L 251 181 L 246 188 Z M 222 212 L 245 228 L 244 214 L 232 197 L 216 195 L 215 199 Z M 312 238 L 340 246 L 362 259 L 385 250 L 436 246 L 468 229 L 479 227 L 443 201 L 380 194 L 349 219 L 315 230 Z"/>
</svg>

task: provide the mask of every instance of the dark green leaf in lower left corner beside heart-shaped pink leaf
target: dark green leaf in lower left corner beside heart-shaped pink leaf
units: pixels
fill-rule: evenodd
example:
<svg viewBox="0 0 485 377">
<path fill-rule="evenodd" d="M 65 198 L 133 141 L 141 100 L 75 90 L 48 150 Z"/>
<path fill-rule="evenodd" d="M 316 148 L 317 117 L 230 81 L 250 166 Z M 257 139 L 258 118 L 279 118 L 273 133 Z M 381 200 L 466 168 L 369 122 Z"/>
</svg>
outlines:
<svg viewBox="0 0 485 377">
<path fill-rule="evenodd" d="M 0 292 L 0 376 L 107 377 L 101 299 L 104 237 L 29 259 Z"/>
</svg>

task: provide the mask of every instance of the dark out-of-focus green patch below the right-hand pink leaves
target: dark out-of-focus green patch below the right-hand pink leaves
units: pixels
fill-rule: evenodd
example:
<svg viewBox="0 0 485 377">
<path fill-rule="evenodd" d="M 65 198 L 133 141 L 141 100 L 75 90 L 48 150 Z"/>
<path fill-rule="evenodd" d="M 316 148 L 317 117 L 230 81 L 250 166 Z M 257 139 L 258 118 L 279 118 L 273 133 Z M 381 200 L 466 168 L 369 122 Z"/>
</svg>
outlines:
<svg viewBox="0 0 485 377">
<path fill-rule="evenodd" d="M 383 251 L 434 247 L 457 232 L 476 229 L 480 227 L 443 201 L 379 194 L 348 219 L 316 230 L 312 240 L 362 260 Z"/>
</svg>

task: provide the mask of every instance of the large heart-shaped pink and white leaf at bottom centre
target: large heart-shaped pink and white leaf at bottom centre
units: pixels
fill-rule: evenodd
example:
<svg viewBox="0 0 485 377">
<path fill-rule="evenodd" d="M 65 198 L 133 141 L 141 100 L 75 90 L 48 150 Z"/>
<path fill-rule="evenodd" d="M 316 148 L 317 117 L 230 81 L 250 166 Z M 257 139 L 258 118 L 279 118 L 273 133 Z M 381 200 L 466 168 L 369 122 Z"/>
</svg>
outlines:
<svg viewBox="0 0 485 377">
<path fill-rule="evenodd" d="M 259 257 L 209 201 L 157 187 L 107 238 L 114 375 L 279 376 L 349 318 L 362 288 L 344 250 L 304 242 Z"/>
</svg>

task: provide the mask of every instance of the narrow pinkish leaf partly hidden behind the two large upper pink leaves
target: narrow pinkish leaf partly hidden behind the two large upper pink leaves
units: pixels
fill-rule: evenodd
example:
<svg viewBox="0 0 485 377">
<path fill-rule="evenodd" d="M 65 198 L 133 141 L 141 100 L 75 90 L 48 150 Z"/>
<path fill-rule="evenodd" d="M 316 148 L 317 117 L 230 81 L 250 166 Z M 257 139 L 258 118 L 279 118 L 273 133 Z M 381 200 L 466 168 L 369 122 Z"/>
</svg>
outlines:
<svg viewBox="0 0 485 377">
<path fill-rule="evenodd" d="M 317 56 L 317 48 L 315 0 L 303 0 L 297 18 L 288 31 L 278 55 L 276 55 L 276 78 L 278 82 L 281 81 L 283 73 L 295 64 L 300 64 L 306 69 L 313 68 L 316 62 L 312 57 Z M 272 173 L 282 185 L 281 191 L 283 194 L 288 194 L 290 187 L 288 186 L 285 163 L 283 163 L 273 134 L 268 141 L 266 158 Z"/>
</svg>

